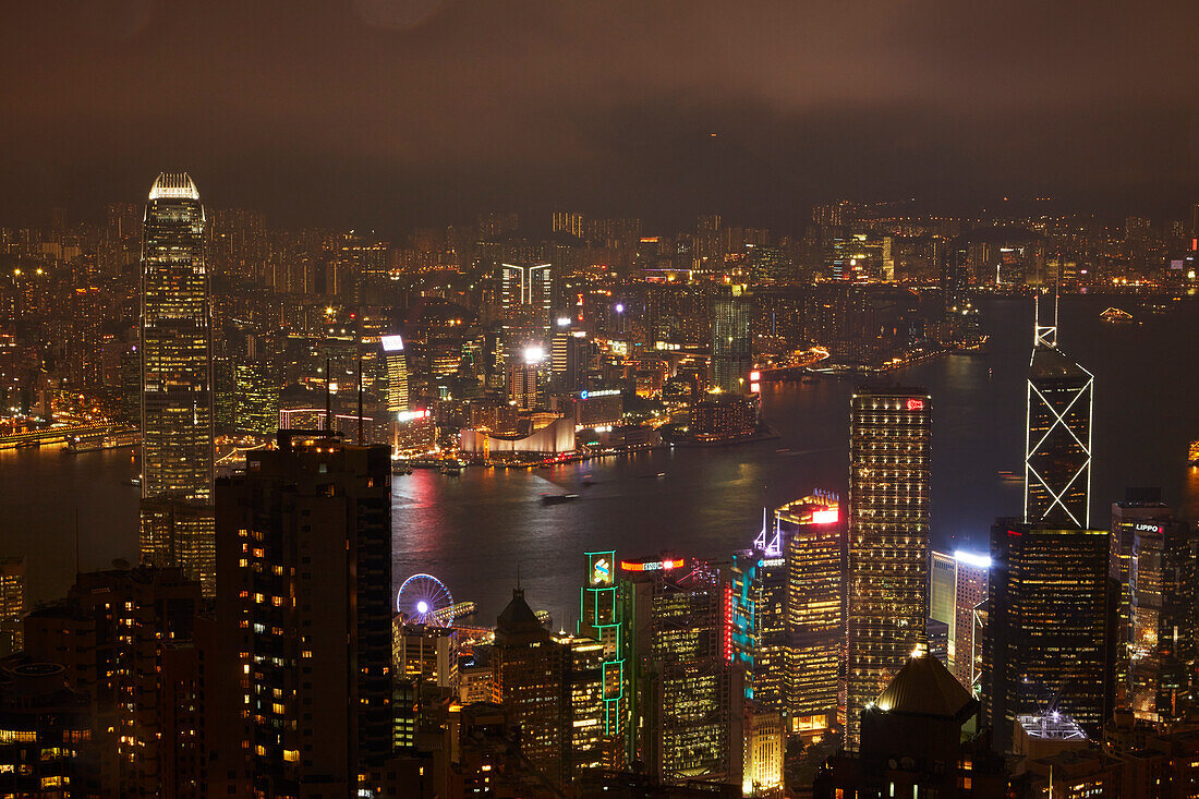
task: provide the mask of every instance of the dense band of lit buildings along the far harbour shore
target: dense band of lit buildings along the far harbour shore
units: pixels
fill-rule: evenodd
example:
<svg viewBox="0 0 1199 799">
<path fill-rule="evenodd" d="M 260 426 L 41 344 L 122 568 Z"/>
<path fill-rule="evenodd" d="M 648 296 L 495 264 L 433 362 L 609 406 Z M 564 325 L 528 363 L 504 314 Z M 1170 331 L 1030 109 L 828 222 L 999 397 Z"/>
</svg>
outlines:
<svg viewBox="0 0 1199 799">
<path fill-rule="evenodd" d="M 605 427 L 703 432 L 693 402 L 752 395 L 755 367 L 777 378 L 814 346 L 846 368 L 978 347 L 983 293 L 1195 282 L 1193 220 L 947 218 L 838 202 L 799 235 L 719 216 L 669 235 L 570 212 L 537 227 L 489 214 L 397 241 L 285 232 L 201 206 L 187 175 L 164 174 L 147 203 L 110 205 L 98 224 L 59 210 L 43 227 L 0 228 L 0 445 L 38 443 L 8 439 L 59 422 L 98 446 L 143 414 L 173 419 L 192 392 L 192 441 L 171 446 L 206 450 L 209 428 L 223 456 L 270 440 L 281 413 L 309 410 L 405 452 L 452 452 L 463 429 L 518 437 L 540 426 L 530 414 L 617 391 L 614 416 L 576 421 L 579 446 L 608 449 Z M 410 413 L 427 422 L 398 417 Z M 157 457 L 167 443 L 145 434 Z M 203 457 L 146 494 L 203 505 Z"/>
</svg>

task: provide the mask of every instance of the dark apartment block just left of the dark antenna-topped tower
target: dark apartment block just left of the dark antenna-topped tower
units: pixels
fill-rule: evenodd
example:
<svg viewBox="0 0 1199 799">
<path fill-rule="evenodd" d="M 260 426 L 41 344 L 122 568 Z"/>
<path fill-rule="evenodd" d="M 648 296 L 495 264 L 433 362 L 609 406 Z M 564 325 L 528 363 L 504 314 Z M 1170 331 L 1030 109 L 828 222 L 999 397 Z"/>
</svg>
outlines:
<svg viewBox="0 0 1199 799">
<path fill-rule="evenodd" d="M 26 655 L 61 666 L 91 701 L 91 735 L 77 743 L 104 795 L 201 795 L 206 697 L 177 679 L 197 663 L 200 607 L 181 569 L 140 566 L 82 573 L 26 618 Z"/>
</svg>

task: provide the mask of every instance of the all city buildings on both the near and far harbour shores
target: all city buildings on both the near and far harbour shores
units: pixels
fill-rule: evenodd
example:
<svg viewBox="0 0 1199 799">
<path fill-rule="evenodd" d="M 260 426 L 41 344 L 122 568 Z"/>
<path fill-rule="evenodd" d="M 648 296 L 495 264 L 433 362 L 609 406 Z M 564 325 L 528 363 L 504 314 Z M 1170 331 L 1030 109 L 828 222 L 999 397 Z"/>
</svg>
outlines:
<svg viewBox="0 0 1199 799">
<path fill-rule="evenodd" d="M 1181 229 L 837 203 L 797 241 L 556 214 L 544 240 L 493 215 L 392 248 L 210 220 L 185 174 L 140 216 L 2 232 L 23 264 L 0 293 L 10 432 L 135 425 L 141 511 L 139 564 L 59 602 L 28 607 L 22 560 L 0 560 L 0 795 L 1199 791 L 1199 536 L 1149 488 L 1092 525 L 1096 386 L 1055 311 L 1035 329 L 1023 515 L 986 554 L 930 547 L 935 398 L 866 384 L 848 497 L 764 512 L 728 558 L 588 552 L 573 631 L 520 585 L 494 630 L 397 614 L 392 594 L 397 453 L 760 434 L 764 372 L 815 346 L 878 365 L 970 343 L 980 290 L 1180 286 Z"/>
</svg>

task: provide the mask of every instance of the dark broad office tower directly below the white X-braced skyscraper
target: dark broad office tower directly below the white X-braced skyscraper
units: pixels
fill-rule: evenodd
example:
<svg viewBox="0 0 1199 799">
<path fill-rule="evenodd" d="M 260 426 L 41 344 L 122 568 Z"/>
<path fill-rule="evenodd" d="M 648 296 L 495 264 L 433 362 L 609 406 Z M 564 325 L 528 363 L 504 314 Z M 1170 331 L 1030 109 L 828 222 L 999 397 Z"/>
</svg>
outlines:
<svg viewBox="0 0 1199 799">
<path fill-rule="evenodd" d="M 1026 713 L 1060 711 L 1097 734 L 1113 707 L 1108 533 L 1024 524 L 990 529 L 983 695 L 996 751 Z"/>
</svg>

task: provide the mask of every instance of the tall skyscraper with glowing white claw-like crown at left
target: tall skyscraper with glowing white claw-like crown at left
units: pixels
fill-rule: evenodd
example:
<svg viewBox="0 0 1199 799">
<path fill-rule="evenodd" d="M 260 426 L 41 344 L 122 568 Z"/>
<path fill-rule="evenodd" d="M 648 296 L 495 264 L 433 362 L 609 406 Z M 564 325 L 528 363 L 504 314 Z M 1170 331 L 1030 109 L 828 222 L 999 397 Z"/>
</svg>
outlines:
<svg viewBox="0 0 1199 799">
<path fill-rule="evenodd" d="M 181 566 L 211 594 L 212 311 L 204 206 L 186 173 L 161 173 L 141 236 L 143 560 Z"/>
</svg>

